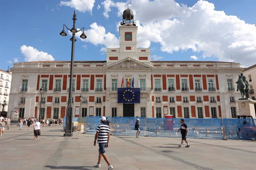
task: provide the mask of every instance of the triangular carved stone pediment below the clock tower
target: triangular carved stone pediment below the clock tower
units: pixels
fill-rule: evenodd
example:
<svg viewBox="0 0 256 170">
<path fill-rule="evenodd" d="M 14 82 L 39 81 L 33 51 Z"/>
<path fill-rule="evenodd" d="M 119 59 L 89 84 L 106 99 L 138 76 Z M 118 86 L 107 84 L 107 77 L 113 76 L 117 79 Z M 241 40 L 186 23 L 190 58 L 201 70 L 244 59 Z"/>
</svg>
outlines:
<svg viewBox="0 0 256 170">
<path fill-rule="evenodd" d="M 108 65 L 105 68 L 152 68 L 152 67 L 140 61 L 127 57 L 111 65 Z"/>
</svg>

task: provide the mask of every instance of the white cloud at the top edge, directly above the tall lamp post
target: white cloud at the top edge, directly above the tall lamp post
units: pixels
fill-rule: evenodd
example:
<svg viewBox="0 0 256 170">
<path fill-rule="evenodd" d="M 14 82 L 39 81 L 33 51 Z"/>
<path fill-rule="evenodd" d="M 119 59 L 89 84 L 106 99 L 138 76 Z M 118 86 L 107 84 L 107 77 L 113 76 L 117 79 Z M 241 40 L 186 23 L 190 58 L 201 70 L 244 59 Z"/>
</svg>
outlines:
<svg viewBox="0 0 256 170">
<path fill-rule="evenodd" d="M 60 1 L 60 6 L 68 6 L 75 8 L 80 12 L 89 11 L 92 13 L 92 8 L 94 6 L 95 0 L 70 0 L 70 1 Z"/>
</svg>

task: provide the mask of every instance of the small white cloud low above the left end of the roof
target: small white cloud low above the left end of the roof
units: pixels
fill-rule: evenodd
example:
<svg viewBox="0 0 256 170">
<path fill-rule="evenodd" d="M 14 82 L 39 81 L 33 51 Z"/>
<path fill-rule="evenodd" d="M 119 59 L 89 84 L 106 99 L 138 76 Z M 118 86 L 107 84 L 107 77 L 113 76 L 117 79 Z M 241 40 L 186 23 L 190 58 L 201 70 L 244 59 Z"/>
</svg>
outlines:
<svg viewBox="0 0 256 170">
<path fill-rule="evenodd" d="M 22 45 L 20 51 L 25 56 L 25 61 L 54 61 L 52 55 L 31 46 Z"/>
</svg>

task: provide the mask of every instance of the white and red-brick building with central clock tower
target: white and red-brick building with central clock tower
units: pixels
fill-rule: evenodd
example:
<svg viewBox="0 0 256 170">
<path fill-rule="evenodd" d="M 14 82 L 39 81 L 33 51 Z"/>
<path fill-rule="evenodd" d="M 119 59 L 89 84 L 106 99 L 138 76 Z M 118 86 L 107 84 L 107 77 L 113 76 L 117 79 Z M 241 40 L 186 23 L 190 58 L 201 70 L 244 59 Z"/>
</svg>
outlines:
<svg viewBox="0 0 256 170">
<path fill-rule="evenodd" d="M 74 62 L 73 117 L 236 118 L 239 63 L 151 61 L 150 49 L 137 47 L 137 30 L 132 11 L 125 10 L 119 48 L 107 48 L 106 61 Z M 41 106 L 42 118 L 66 115 L 70 61 L 19 62 L 11 70 L 9 110 L 39 117 Z M 132 84 L 140 88 L 140 103 L 118 103 L 117 88 Z"/>
</svg>

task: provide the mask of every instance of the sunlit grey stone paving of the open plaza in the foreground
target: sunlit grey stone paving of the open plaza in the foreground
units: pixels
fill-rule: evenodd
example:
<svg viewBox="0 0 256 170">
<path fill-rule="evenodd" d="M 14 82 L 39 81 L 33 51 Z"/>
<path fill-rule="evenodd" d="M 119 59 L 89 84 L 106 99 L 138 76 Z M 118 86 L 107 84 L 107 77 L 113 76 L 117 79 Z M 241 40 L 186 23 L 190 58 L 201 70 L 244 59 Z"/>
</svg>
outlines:
<svg viewBox="0 0 256 170">
<path fill-rule="evenodd" d="M 63 137 L 62 126 L 42 127 L 39 140 L 33 128 L 12 125 L 0 137 L 1 170 L 77 169 L 93 167 L 98 160 L 94 135 L 73 133 Z M 256 141 L 188 139 L 190 148 L 178 148 L 181 138 L 111 136 L 106 154 L 114 170 L 256 169 Z"/>
</svg>

